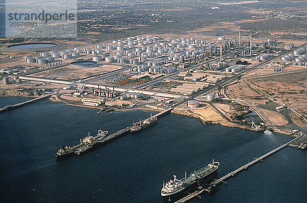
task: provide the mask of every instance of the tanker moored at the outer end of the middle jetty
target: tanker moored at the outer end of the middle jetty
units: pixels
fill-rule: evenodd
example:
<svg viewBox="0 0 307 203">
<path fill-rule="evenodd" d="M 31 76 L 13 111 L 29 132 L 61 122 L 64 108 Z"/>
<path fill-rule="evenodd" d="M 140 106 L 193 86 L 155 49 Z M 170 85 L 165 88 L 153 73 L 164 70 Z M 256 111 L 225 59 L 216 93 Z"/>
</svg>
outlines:
<svg viewBox="0 0 307 203">
<path fill-rule="evenodd" d="M 75 145 L 73 147 L 62 147 L 58 150 L 58 152 L 55 154 L 55 157 L 63 157 L 67 155 L 71 155 L 72 153 L 80 154 L 86 150 L 89 150 L 90 148 L 94 147 L 94 145 L 98 144 L 99 141 L 106 136 L 108 131 L 102 131 L 98 130 L 98 134 L 93 137 L 90 135 L 86 136 L 82 139 L 80 139 L 80 144 Z"/>
</svg>

